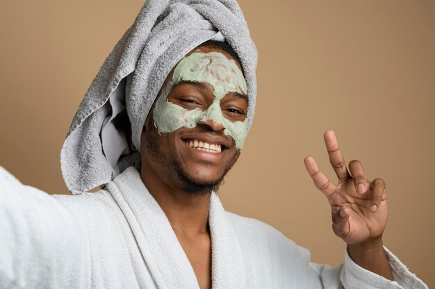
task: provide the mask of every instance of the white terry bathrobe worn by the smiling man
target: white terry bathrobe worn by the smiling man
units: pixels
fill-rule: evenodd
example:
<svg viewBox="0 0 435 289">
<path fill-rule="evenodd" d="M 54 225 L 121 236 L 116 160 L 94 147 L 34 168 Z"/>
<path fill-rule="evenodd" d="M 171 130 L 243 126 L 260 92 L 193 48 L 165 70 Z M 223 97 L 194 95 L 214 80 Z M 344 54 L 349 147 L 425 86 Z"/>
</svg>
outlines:
<svg viewBox="0 0 435 289">
<path fill-rule="evenodd" d="M 211 195 L 212 287 L 427 288 L 387 249 L 395 281 L 345 252 L 331 268 Z M 199 288 L 165 213 L 134 167 L 104 190 L 47 195 L 0 167 L 0 288 Z"/>
</svg>

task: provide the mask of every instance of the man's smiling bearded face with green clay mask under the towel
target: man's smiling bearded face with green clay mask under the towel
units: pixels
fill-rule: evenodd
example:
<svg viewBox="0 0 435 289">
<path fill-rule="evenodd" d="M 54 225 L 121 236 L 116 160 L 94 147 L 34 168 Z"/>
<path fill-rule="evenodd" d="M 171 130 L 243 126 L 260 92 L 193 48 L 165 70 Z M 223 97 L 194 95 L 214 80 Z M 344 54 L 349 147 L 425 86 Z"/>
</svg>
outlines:
<svg viewBox="0 0 435 289">
<path fill-rule="evenodd" d="M 145 120 L 142 169 L 191 192 L 217 188 L 240 154 L 247 105 L 240 64 L 220 49 L 193 49 L 167 76 Z"/>
</svg>

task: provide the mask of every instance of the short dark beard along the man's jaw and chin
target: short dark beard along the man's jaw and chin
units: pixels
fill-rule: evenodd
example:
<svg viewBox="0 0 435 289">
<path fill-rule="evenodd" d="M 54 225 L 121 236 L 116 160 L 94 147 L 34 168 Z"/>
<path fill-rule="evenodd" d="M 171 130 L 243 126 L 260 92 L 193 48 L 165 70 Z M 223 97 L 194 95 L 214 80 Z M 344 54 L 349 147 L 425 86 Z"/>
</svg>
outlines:
<svg viewBox="0 0 435 289">
<path fill-rule="evenodd" d="M 151 124 L 147 127 L 147 129 L 149 129 L 149 131 L 147 131 L 146 146 L 151 152 L 154 162 L 167 164 L 168 172 L 177 178 L 177 180 L 183 185 L 183 188 L 186 192 L 192 195 L 205 196 L 210 194 L 212 191 L 217 192 L 217 190 L 219 190 L 220 185 L 224 183 L 224 176 L 231 169 L 231 165 L 225 168 L 221 176 L 212 181 L 195 179 L 195 177 L 188 172 L 186 167 L 181 165 L 179 160 L 169 160 L 167 156 L 163 154 L 158 146 L 157 138 L 159 138 L 160 135 L 158 134 L 156 127 Z"/>
</svg>

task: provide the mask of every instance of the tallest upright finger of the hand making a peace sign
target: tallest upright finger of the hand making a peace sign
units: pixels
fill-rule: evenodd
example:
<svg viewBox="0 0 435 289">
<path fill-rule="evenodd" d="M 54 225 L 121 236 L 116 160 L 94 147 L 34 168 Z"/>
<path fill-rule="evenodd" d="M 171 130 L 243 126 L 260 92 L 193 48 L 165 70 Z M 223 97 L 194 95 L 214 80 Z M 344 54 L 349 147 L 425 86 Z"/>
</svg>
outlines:
<svg viewBox="0 0 435 289">
<path fill-rule="evenodd" d="M 347 171 L 345 159 L 341 155 L 340 148 L 336 134 L 334 131 L 327 131 L 324 135 L 325 145 L 327 147 L 329 161 L 336 172 L 336 175 L 340 181 L 345 181 L 350 178 L 350 174 Z"/>
</svg>

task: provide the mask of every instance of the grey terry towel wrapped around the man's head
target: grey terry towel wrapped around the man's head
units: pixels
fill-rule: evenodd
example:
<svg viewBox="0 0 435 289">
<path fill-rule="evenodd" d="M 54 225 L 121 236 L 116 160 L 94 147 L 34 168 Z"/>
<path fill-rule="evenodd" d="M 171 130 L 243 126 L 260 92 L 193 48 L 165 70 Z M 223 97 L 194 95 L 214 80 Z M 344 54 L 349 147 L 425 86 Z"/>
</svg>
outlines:
<svg viewBox="0 0 435 289">
<path fill-rule="evenodd" d="M 138 166 L 143 123 L 167 74 L 206 40 L 225 40 L 247 81 L 248 126 L 257 52 L 235 0 L 149 0 L 86 92 L 60 152 L 67 188 L 78 194 Z"/>
</svg>

